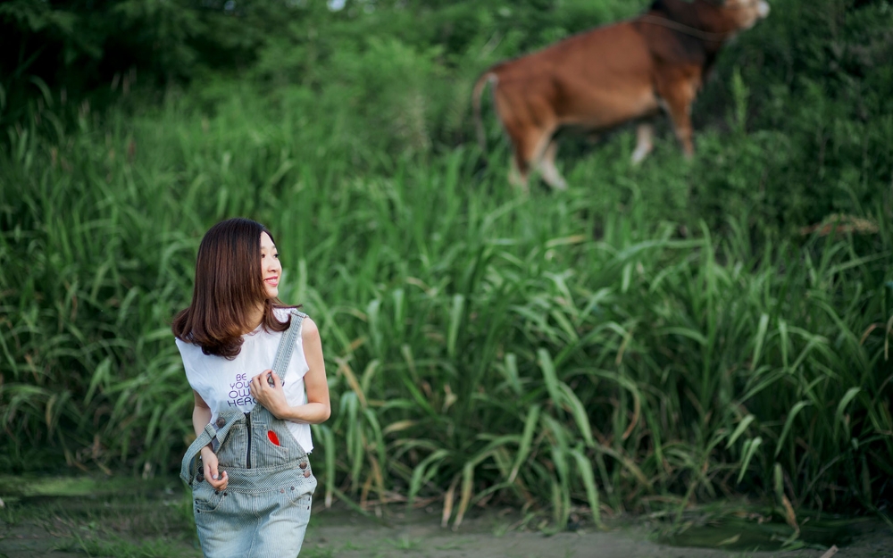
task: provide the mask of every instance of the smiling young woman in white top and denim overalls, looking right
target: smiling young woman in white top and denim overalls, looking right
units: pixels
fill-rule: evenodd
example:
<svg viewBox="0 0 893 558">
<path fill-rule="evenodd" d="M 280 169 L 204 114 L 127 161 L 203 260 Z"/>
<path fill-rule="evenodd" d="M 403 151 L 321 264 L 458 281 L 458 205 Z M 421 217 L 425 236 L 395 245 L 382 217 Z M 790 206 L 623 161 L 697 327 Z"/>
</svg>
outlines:
<svg viewBox="0 0 893 558">
<path fill-rule="evenodd" d="M 212 558 L 296 556 L 310 521 L 310 425 L 329 418 L 329 385 L 319 330 L 282 304 L 281 273 L 270 231 L 222 221 L 171 327 L 196 399 L 181 476 Z"/>
</svg>

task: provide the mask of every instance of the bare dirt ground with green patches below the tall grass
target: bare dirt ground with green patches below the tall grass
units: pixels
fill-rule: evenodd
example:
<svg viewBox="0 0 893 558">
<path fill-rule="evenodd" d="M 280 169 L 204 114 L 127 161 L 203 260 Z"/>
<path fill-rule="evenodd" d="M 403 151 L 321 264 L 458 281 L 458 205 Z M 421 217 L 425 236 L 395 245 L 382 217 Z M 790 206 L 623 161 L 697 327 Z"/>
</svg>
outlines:
<svg viewBox="0 0 893 558">
<path fill-rule="evenodd" d="M 0 478 L 0 558 L 201 556 L 189 495 L 178 483 L 169 479 L 134 487 L 132 481 L 107 479 Z M 440 527 L 436 506 L 410 516 L 404 512 L 391 508 L 383 520 L 375 520 L 342 506 L 315 505 L 301 557 L 820 558 L 827 549 L 754 552 L 740 535 L 727 537 L 720 547 L 668 546 L 658 539 L 658 526 L 645 518 L 614 518 L 606 530 L 583 524 L 548 536 L 530 528 L 530 521 L 519 521 L 511 509 L 476 512 L 456 531 Z M 838 531 L 845 540 L 835 558 L 893 558 L 893 530 L 886 524 L 858 521 L 844 529 Z"/>
</svg>

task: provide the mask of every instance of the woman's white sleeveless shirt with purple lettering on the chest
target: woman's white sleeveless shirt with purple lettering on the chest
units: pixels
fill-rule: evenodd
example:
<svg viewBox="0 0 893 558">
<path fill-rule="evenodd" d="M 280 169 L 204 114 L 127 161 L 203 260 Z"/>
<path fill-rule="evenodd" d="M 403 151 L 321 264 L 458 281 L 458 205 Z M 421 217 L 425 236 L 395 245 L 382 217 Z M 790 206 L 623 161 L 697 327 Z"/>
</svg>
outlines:
<svg viewBox="0 0 893 558">
<path fill-rule="evenodd" d="M 280 321 L 288 318 L 288 308 L 276 308 L 273 312 Z M 202 347 L 176 339 L 189 386 L 211 408 L 211 422 L 217 420 L 221 411 L 238 409 L 241 412 L 250 412 L 254 408 L 257 402 L 251 396 L 248 382 L 257 374 L 273 367 L 273 359 L 276 358 L 283 333 L 285 332 L 264 331 L 263 326 L 258 326 L 251 333 L 242 336 L 242 350 L 231 361 L 222 356 L 204 354 Z M 298 333 L 295 352 L 291 355 L 282 379 L 286 401 L 293 407 L 307 403 L 304 375 L 310 370 L 310 366 L 304 355 L 304 340 L 301 337 Z M 308 454 L 313 451 L 310 425 L 290 421 L 286 424 L 304 451 Z"/>
</svg>

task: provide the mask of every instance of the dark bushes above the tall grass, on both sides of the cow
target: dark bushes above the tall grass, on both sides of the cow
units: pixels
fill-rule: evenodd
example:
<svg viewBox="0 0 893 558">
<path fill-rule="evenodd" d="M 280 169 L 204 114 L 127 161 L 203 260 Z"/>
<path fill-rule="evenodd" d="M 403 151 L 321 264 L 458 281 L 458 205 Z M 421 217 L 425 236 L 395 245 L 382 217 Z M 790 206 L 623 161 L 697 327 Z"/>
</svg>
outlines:
<svg viewBox="0 0 893 558">
<path fill-rule="evenodd" d="M 391 154 L 450 149 L 471 137 L 462 87 L 488 63 L 643 6 L 348 0 L 332 11 L 309 0 L 13 0 L 0 4 L 0 127 L 52 103 L 54 91 L 102 109 L 136 82 L 140 99 L 199 84 L 213 110 L 230 87 L 213 84 L 235 79 L 273 97 L 301 86 L 348 103 L 357 122 L 353 151 L 371 141 Z M 761 170 L 760 221 L 803 226 L 889 197 L 890 10 L 883 1 L 777 2 L 768 21 L 723 54 L 696 125 L 759 132 L 772 146 L 776 157 Z M 449 87 L 456 79 L 462 87 Z M 417 117 L 401 119 L 396 112 L 407 112 L 412 94 L 421 99 Z M 321 110 L 335 108 L 321 101 Z M 391 133 L 371 137 L 383 128 Z M 590 147 L 569 143 L 564 152 L 580 157 Z M 697 193 L 705 212 L 750 196 L 733 184 L 705 186 Z"/>
</svg>

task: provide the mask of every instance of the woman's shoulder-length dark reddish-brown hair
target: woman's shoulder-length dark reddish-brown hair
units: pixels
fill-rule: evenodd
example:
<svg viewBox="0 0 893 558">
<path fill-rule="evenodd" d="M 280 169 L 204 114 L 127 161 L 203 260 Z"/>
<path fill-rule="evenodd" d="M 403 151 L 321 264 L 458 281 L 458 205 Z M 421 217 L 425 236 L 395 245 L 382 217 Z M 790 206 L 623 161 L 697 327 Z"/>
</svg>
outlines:
<svg viewBox="0 0 893 558">
<path fill-rule="evenodd" d="M 250 219 L 221 221 L 204 233 L 198 246 L 196 286 L 192 303 L 174 316 L 171 330 L 181 341 L 202 347 L 204 354 L 232 360 L 242 349 L 242 336 L 255 328 L 249 317 L 263 304 L 261 324 L 267 331 L 284 331 L 274 308 L 286 307 L 267 298 L 261 270 L 261 234 L 270 231 Z M 273 240 L 273 244 L 275 244 Z"/>
</svg>

